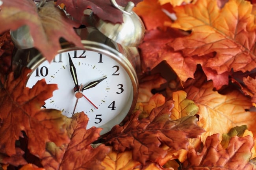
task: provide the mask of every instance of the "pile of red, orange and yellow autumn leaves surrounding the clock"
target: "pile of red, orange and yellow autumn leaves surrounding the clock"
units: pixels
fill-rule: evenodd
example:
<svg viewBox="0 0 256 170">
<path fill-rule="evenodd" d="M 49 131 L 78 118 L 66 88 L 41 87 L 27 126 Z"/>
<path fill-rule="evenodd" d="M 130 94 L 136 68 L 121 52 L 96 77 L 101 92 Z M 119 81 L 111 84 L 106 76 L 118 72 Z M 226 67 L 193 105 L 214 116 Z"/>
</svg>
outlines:
<svg viewBox="0 0 256 170">
<path fill-rule="evenodd" d="M 3 3 L 1 3 L 3 2 Z M 125 6 L 128 0 L 117 0 Z M 51 60 L 88 7 L 122 22 L 106 0 L 0 0 L 0 170 L 256 169 L 256 4 L 246 0 L 135 0 L 147 28 L 134 112 L 104 136 L 88 118 L 41 109 L 56 84 L 14 79 L 9 34 L 26 24 Z"/>
</svg>

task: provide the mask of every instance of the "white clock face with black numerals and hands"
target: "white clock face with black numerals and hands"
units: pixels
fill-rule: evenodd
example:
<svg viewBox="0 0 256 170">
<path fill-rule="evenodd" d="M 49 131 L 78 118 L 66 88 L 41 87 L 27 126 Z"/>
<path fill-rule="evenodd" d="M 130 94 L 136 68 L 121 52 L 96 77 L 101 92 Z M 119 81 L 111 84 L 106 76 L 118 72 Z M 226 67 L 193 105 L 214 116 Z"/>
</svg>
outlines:
<svg viewBox="0 0 256 170">
<path fill-rule="evenodd" d="M 108 132 L 122 121 L 132 105 L 134 91 L 128 73 L 102 53 L 60 53 L 52 62 L 40 64 L 30 75 L 27 86 L 32 88 L 41 79 L 58 84 L 58 90 L 43 107 L 61 110 L 67 117 L 83 111 L 89 117 L 87 128 L 104 127 Z"/>
</svg>

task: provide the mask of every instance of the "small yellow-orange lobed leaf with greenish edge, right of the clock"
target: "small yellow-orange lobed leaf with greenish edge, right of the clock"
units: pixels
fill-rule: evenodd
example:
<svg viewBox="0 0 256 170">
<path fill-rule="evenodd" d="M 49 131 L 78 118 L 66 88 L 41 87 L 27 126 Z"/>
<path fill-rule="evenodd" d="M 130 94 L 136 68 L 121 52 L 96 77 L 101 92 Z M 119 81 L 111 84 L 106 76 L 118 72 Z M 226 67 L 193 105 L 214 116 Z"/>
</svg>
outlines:
<svg viewBox="0 0 256 170">
<path fill-rule="evenodd" d="M 198 112 L 195 102 L 186 98 L 185 91 L 173 92 L 174 108 L 172 110 L 171 119 L 176 120 L 185 116 L 194 116 Z"/>
</svg>

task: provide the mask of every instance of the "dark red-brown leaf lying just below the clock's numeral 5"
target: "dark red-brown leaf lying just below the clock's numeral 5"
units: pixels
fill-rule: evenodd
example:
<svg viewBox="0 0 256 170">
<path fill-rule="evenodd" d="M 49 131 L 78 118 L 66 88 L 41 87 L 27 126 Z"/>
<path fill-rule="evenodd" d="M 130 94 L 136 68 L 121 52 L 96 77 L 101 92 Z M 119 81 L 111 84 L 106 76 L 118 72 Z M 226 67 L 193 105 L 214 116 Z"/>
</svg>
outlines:
<svg viewBox="0 0 256 170">
<path fill-rule="evenodd" d="M 166 155 L 161 144 L 175 150 L 187 148 L 187 138 L 195 138 L 204 132 L 196 122 L 196 117 L 171 120 L 174 104 L 167 101 L 163 106 L 154 108 L 147 118 L 138 120 L 140 112 L 135 112 L 123 126 L 116 125 L 106 137 L 114 150 L 132 150 L 132 157 L 145 165 L 146 161 L 158 162 Z M 153 154 L 154 153 L 154 154 Z"/>
</svg>

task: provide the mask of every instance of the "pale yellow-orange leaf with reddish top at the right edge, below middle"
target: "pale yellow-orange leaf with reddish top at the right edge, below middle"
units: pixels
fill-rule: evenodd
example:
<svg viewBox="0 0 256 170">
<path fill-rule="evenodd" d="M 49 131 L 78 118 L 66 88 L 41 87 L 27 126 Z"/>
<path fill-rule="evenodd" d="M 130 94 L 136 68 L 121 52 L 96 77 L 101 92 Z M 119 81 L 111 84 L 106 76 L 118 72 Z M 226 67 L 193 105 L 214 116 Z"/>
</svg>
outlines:
<svg viewBox="0 0 256 170">
<path fill-rule="evenodd" d="M 186 90 L 187 99 L 191 99 L 199 107 L 198 124 L 206 130 L 201 135 L 204 142 L 206 137 L 214 133 L 228 133 L 234 126 L 247 125 L 248 130 L 256 134 L 255 112 L 247 111 L 252 102 L 240 91 L 233 90 L 225 95 L 213 91 L 212 82 L 207 82 L 200 88 L 189 86 Z"/>
</svg>

